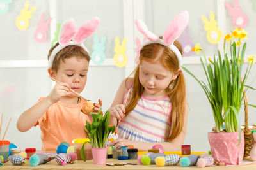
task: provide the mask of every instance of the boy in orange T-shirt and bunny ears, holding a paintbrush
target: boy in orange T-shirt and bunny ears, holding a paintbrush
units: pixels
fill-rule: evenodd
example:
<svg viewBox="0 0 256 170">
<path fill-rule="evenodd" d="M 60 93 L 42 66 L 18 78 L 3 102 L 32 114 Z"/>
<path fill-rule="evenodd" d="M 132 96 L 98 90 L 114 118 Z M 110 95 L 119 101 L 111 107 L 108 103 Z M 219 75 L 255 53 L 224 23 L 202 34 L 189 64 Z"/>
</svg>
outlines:
<svg viewBox="0 0 256 170">
<path fill-rule="evenodd" d="M 83 45 L 84 38 L 96 31 L 99 18 L 93 18 L 83 24 L 76 34 L 76 23 L 68 20 L 61 25 L 59 43 L 49 50 L 49 76 L 60 83 L 56 83 L 47 97 L 24 111 L 17 122 L 19 131 L 28 131 L 39 125 L 41 130 L 42 150 L 56 150 L 61 142 L 71 145 L 75 138 L 85 138 L 84 125 L 90 121 L 91 115 L 81 113 L 86 100 L 70 92 L 70 89 L 81 93 L 86 85 L 90 56 Z M 75 41 L 70 41 L 76 34 Z M 95 111 L 102 105 L 94 103 Z"/>
</svg>

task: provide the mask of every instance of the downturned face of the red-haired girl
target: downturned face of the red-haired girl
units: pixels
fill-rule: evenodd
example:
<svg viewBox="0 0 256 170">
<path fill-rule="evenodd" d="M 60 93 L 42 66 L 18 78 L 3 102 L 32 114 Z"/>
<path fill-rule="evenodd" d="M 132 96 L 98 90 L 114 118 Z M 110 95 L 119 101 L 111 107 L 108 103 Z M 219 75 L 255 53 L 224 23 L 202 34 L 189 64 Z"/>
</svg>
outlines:
<svg viewBox="0 0 256 170">
<path fill-rule="evenodd" d="M 168 87 L 172 80 L 175 80 L 179 73 L 174 74 L 172 71 L 163 67 L 160 62 L 151 63 L 142 60 L 140 64 L 139 79 L 141 85 L 145 88 L 148 95 L 155 97 L 165 95 L 164 89 Z"/>
</svg>

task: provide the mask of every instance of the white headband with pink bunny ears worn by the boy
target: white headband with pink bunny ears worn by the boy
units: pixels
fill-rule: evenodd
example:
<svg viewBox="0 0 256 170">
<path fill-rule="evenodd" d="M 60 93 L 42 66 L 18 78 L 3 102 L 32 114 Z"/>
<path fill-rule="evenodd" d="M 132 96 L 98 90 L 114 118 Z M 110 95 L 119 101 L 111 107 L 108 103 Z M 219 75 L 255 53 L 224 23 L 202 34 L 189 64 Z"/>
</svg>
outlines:
<svg viewBox="0 0 256 170">
<path fill-rule="evenodd" d="M 95 17 L 92 20 L 81 25 L 79 30 L 77 31 L 76 22 L 73 19 L 65 21 L 60 28 L 59 33 L 59 45 L 54 48 L 49 57 L 48 67 L 52 67 L 52 62 L 58 52 L 69 45 L 77 45 L 81 46 L 88 52 L 87 48 L 83 45 L 83 41 L 85 38 L 88 38 L 96 31 L 99 26 L 100 19 Z M 70 41 L 74 37 L 74 41 Z"/>
</svg>

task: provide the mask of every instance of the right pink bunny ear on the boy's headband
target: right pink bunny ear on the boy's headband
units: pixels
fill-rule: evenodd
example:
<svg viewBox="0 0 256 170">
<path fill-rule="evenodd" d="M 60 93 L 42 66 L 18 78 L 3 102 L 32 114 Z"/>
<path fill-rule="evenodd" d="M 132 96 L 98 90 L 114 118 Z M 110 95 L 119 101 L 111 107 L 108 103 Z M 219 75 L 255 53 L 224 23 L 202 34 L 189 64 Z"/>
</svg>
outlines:
<svg viewBox="0 0 256 170">
<path fill-rule="evenodd" d="M 91 36 L 93 32 L 96 31 L 99 24 L 100 24 L 100 19 L 97 17 L 92 18 L 92 20 L 89 20 L 88 22 L 83 24 L 79 28 L 79 31 L 76 34 L 75 41 L 77 43 L 81 43 L 85 38 L 88 38 L 88 36 Z"/>
</svg>

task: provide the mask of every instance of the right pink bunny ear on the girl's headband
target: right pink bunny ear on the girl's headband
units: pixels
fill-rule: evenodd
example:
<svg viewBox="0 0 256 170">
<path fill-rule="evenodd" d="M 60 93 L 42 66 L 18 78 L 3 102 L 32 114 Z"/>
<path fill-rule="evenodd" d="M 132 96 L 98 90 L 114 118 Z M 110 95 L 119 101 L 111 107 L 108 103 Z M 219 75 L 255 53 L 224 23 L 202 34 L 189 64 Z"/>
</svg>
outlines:
<svg viewBox="0 0 256 170">
<path fill-rule="evenodd" d="M 182 11 L 177 15 L 164 31 L 163 40 L 166 44 L 171 44 L 175 39 L 179 38 L 180 34 L 188 25 L 189 14 L 188 11 Z"/>
</svg>

